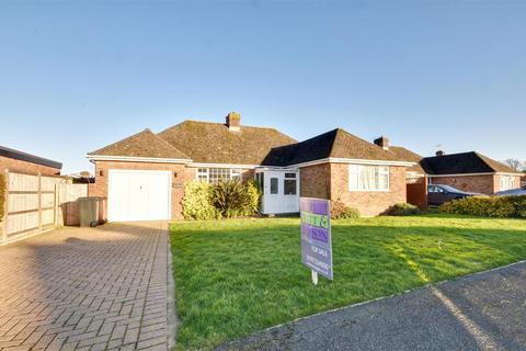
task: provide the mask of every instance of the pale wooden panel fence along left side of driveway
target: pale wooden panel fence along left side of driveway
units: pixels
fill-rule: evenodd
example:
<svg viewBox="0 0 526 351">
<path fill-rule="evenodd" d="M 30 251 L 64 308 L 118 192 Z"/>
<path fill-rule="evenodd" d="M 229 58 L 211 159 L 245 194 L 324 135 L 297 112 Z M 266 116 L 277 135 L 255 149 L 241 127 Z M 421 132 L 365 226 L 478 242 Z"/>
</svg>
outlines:
<svg viewBox="0 0 526 351">
<path fill-rule="evenodd" d="M 5 172 L 5 210 L 0 245 L 64 224 L 62 204 L 88 195 L 87 184 L 64 177 Z"/>
</svg>

